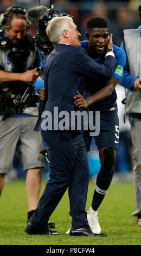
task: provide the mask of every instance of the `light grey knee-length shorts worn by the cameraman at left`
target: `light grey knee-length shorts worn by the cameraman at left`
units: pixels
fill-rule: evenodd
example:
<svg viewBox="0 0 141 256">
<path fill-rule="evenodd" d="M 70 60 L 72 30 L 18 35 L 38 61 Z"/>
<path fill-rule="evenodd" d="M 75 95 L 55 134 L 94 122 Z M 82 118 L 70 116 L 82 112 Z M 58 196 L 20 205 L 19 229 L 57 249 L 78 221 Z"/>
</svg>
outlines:
<svg viewBox="0 0 141 256">
<path fill-rule="evenodd" d="M 0 115 L 0 173 L 10 172 L 15 151 L 23 170 L 43 168 L 42 136 L 33 130 L 37 117 L 2 118 Z"/>
</svg>

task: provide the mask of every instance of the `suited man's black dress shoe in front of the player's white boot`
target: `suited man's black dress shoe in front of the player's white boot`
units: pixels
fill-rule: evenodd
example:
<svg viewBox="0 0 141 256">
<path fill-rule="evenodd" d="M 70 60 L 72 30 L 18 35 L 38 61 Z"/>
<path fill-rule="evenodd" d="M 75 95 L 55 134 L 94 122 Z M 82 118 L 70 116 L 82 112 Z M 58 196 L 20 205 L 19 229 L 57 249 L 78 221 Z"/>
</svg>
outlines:
<svg viewBox="0 0 141 256">
<path fill-rule="evenodd" d="M 82 236 L 82 235 L 85 235 L 85 236 L 106 236 L 106 234 L 104 234 L 104 233 L 100 233 L 100 234 L 93 233 L 93 231 L 89 227 L 76 228 L 76 229 L 70 228 L 69 235 L 75 235 L 75 236 Z"/>
</svg>

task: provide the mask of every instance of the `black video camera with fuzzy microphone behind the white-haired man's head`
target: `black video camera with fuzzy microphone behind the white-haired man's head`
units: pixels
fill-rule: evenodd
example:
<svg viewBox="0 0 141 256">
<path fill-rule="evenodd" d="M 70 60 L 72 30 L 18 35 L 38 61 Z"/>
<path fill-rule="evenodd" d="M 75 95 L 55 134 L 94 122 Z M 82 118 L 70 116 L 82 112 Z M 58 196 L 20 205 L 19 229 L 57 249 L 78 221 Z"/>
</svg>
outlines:
<svg viewBox="0 0 141 256">
<path fill-rule="evenodd" d="M 27 19 L 31 23 L 37 24 L 37 33 L 35 36 L 35 42 L 37 47 L 40 50 L 42 50 L 42 53 L 45 54 L 45 56 L 48 56 L 48 54 L 52 52 L 54 49 L 54 45 L 52 44 L 52 42 L 50 42 L 46 34 L 46 27 L 47 27 L 48 21 L 53 19 L 54 17 L 59 17 L 59 16 L 69 16 L 73 18 L 72 15 L 69 15 L 66 13 L 59 14 L 57 10 L 54 10 L 54 5 L 51 3 L 50 3 L 50 7 L 51 8 L 48 9 L 44 5 L 39 5 L 27 11 Z"/>
</svg>

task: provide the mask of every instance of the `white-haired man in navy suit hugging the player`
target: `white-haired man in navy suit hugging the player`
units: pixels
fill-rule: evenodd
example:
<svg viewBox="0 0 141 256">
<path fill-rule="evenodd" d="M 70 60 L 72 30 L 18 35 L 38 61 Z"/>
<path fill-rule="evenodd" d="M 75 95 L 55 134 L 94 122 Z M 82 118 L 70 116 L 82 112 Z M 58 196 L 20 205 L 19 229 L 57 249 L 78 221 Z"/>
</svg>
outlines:
<svg viewBox="0 0 141 256">
<path fill-rule="evenodd" d="M 118 65 L 113 54 L 112 36 L 104 64 L 98 64 L 79 47 L 81 34 L 77 31 L 72 18 L 54 17 L 49 21 L 46 32 L 49 40 L 56 46 L 47 58 L 44 77 L 48 100 L 43 102 L 42 113 L 35 130 L 42 131 L 43 139 L 48 145 L 50 179 L 25 232 L 58 234 L 57 231 L 48 229 L 47 222 L 68 188 L 69 214 L 72 216 L 72 228 L 69 234 L 104 236 L 105 234 L 94 234 L 87 222 L 85 211 L 89 181 L 87 153 L 80 127 L 76 129 L 77 123 L 75 124 L 75 120 L 68 120 L 68 116 L 70 117 L 76 110 L 82 111 L 80 108 L 76 109 L 74 96 L 77 92 L 84 95 L 87 76 L 100 80 L 109 80 L 112 77 Z M 54 109 L 57 109 L 55 113 Z M 58 121 L 63 119 L 63 114 L 66 112 L 68 115 L 65 126 L 60 125 Z"/>
</svg>

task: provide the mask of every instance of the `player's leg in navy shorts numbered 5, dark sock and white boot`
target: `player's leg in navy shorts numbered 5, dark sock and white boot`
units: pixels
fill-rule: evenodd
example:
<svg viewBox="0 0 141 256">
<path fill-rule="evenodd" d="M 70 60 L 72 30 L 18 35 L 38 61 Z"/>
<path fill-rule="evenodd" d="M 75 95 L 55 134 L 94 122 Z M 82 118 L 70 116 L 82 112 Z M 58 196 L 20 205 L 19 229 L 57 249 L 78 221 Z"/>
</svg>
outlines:
<svg viewBox="0 0 141 256">
<path fill-rule="evenodd" d="M 94 138 L 99 149 L 101 168 L 97 175 L 92 205 L 88 210 L 87 218 L 93 232 L 100 233 L 98 209 L 113 178 L 119 142 L 118 116 L 116 111 L 100 115 L 100 134 Z"/>
</svg>

